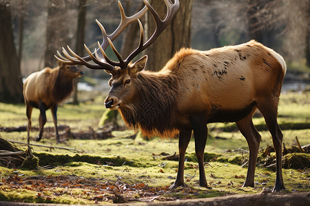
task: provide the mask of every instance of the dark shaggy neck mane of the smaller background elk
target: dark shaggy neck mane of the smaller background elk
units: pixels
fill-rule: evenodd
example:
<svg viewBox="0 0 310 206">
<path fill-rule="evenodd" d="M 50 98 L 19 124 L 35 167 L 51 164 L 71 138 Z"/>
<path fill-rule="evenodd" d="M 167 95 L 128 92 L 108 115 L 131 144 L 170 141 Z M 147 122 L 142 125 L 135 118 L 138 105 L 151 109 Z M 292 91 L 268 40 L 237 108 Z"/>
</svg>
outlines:
<svg viewBox="0 0 310 206">
<path fill-rule="evenodd" d="M 52 78 L 51 84 L 54 84 L 54 87 L 52 87 L 51 93 L 54 95 L 54 100 L 58 104 L 65 100 L 65 98 L 68 98 L 73 91 L 73 79 L 61 76 L 61 69 L 58 69 L 58 71 L 54 72 L 52 75 L 54 75 L 54 77 Z"/>
</svg>

